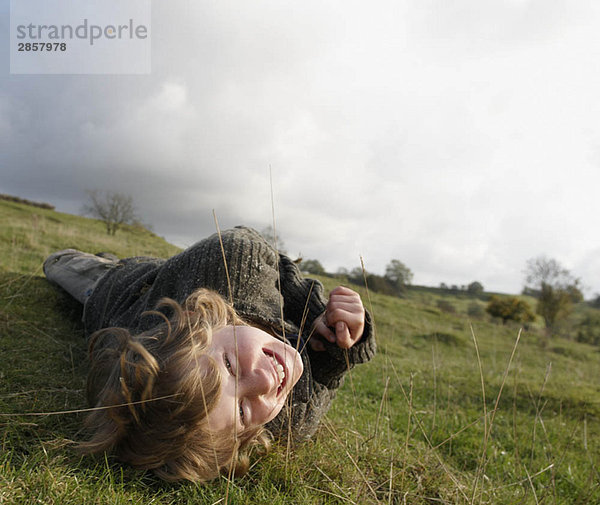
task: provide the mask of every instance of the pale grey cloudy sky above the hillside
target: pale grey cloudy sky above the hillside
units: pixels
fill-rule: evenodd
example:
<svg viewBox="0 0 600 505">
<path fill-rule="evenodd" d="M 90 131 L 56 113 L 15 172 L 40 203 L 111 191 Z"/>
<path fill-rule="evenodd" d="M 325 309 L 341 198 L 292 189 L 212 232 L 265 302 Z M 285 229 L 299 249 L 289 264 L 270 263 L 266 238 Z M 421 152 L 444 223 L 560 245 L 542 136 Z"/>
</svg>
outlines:
<svg viewBox="0 0 600 505">
<path fill-rule="evenodd" d="M 152 3 L 150 75 L 10 75 L 0 191 L 130 193 L 180 246 L 272 221 L 331 271 L 518 292 L 528 258 L 600 292 L 600 4 Z"/>
</svg>

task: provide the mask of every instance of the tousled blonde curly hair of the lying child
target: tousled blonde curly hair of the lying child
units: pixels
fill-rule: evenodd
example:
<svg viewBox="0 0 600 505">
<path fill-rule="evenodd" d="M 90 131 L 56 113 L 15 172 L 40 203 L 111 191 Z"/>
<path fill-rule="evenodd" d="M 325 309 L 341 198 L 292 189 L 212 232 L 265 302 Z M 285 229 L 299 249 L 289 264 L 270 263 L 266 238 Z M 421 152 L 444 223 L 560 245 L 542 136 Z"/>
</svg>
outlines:
<svg viewBox="0 0 600 505">
<path fill-rule="evenodd" d="M 269 436 L 262 427 L 243 433 L 209 429 L 221 377 L 206 351 L 214 332 L 247 323 L 206 289 L 192 293 L 183 307 L 162 299 L 144 315 L 163 321 L 139 335 L 106 328 L 90 337 L 87 394 L 96 410 L 86 418 L 90 438 L 79 450 L 113 453 L 168 481 L 245 473 L 252 450 L 268 450 Z"/>
</svg>

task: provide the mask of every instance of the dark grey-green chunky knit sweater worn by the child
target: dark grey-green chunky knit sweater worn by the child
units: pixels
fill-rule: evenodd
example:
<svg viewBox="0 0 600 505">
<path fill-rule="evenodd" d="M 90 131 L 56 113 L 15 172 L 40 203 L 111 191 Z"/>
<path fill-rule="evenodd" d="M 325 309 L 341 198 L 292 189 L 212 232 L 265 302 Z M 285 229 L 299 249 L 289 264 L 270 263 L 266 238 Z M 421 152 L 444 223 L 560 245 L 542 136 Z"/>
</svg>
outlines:
<svg viewBox="0 0 600 505">
<path fill-rule="evenodd" d="M 290 258 L 278 254 L 255 230 L 236 227 L 222 232 L 221 239 L 223 250 L 214 234 L 168 260 L 121 260 L 100 279 L 85 304 L 86 334 L 111 326 L 134 333 L 150 329 L 159 319 L 141 317 L 142 312 L 154 309 L 163 297 L 183 303 L 204 287 L 232 300 L 238 314 L 249 322 L 308 338 L 315 319 L 326 308 L 322 284 L 304 278 Z M 295 440 L 315 432 L 349 367 L 375 354 L 370 316 L 366 316 L 362 338 L 351 349 L 328 342 L 325 347 L 324 352 L 315 352 L 310 346 L 302 350 L 304 372 L 287 402 L 291 407 L 284 408 L 267 426 L 274 435 L 287 432 L 288 420 Z"/>
</svg>

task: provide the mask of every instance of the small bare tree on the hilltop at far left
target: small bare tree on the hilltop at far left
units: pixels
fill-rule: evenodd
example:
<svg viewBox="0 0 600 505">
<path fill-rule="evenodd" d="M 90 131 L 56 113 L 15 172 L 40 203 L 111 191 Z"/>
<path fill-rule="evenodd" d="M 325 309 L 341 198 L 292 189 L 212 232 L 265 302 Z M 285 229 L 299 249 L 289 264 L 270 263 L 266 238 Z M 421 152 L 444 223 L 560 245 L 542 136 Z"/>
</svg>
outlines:
<svg viewBox="0 0 600 505">
<path fill-rule="evenodd" d="M 85 214 L 100 219 L 106 225 L 106 233 L 114 235 L 123 224 L 136 219 L 131 195 L 113 191 L 86 191 L 90 202 L 83 207 Z"/>
</svg>

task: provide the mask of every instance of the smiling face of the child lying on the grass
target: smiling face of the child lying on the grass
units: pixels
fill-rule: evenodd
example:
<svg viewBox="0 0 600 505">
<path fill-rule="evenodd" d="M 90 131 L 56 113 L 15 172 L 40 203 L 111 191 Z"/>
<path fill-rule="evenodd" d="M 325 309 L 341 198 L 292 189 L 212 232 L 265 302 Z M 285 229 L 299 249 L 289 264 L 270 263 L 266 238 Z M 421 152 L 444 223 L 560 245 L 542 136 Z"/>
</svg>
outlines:
<svg viewBox="0 0 600 505">
<path fill-rule="evenodd" d="M 221 396 L 208 415 L 215 432 L 241 432 L 271 421 L 303 370 L 296 349 L 253 326 L 218 330 L 208 355 L 221 373 Z"/>
</svg>

